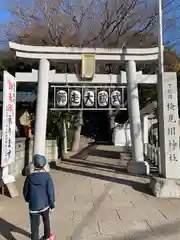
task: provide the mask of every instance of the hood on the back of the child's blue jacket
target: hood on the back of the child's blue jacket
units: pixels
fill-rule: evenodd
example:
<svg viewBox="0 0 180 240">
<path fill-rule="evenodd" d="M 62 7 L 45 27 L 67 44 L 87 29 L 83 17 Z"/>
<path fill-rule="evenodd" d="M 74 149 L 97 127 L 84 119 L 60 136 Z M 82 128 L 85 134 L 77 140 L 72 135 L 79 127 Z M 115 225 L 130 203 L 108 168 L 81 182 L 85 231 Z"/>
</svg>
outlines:
<svg viewBox="0 0 180 240">
<path fill-rule="evenodd" d="M 29 175 L 29 182 L 33 185 L 45 185 L 48 180 L 48 173 L 46 172 L 36 172 Z"/>
</svg>

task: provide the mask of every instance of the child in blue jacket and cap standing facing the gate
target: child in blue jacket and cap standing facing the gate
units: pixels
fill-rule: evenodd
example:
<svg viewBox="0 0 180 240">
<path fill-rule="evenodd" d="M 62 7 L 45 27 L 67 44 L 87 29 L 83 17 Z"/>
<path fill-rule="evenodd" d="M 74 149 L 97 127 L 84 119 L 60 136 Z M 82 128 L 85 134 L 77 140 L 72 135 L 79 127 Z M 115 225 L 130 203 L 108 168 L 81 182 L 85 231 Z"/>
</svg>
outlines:
<svg viewBox="0 0 180 240">
<path fill-rule="evenodd" d="M 29 203 L 32 240 L 39 240 L 40 216 L 44 224 L 44 239 L 54 239 L 49 220 L 49 211 L 54 210 L 54 185 L 50 174 L 44 170 L 45 165 L 46 158 L 36 154 L 35 171 L 27 176 L 23 188 L 24 199 Z"/>
</svg>

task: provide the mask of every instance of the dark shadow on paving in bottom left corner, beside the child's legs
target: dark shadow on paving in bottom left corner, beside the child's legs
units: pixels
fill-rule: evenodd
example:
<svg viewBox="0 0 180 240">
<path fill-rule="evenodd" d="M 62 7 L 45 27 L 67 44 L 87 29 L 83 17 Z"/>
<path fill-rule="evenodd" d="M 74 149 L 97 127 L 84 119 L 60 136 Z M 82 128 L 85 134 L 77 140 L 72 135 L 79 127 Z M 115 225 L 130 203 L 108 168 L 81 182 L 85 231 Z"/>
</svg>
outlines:
<svg viewBox="0 0 180 240">
<path fill-rule="evenodd" d="M 18 240 L 12 235 L 12 232 L 16 232 L 30 238 L 30 233 L 19 227 L 16 227 L 0 217 L 0 235 L 7 240 Z"/>
</svg>

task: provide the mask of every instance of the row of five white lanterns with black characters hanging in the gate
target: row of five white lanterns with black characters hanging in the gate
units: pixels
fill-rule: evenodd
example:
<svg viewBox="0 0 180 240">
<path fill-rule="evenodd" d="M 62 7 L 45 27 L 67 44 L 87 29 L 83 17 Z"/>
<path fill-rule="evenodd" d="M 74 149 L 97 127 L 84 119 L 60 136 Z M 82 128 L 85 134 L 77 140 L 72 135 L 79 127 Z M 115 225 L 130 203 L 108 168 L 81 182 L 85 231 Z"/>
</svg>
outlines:
<svg viewBox="0 0 180 240">
<path fill-rule="evenodd" d="M 53 86 L 54 109 L 126 110 L 126 87 L 116 85 Z"/>
</svg>

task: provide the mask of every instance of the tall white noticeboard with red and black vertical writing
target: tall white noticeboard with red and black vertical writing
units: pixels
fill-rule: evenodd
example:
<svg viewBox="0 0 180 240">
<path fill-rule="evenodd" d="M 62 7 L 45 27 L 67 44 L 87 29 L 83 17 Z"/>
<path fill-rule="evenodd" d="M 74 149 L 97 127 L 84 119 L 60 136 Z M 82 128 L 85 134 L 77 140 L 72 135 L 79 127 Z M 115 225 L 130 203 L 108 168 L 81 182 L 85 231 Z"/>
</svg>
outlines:
<svg viewBox="0 0 180 240">
<path fill-rule="evenodd" d="M 1 167 L 15 161 L 16 80 L 4 71 Z"/>
</svg>

